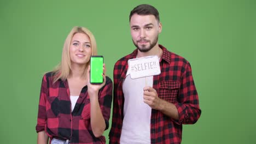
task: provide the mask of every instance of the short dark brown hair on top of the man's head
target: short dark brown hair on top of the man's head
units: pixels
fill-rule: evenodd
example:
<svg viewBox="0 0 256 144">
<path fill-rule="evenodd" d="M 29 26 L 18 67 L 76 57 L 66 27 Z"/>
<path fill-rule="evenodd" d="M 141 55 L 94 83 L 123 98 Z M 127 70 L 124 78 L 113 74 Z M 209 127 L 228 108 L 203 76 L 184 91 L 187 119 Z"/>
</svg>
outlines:
<svg viewBox="0 0 256 144">
<path fill-rule="evenodd" d="M 154 15 L 155 19 L 160 21 L 158 10 L 149 4 L 141 4 L 135 7 L 130 13 L 130 21 L 133 14 L 138 15 Z"/>
</svg>

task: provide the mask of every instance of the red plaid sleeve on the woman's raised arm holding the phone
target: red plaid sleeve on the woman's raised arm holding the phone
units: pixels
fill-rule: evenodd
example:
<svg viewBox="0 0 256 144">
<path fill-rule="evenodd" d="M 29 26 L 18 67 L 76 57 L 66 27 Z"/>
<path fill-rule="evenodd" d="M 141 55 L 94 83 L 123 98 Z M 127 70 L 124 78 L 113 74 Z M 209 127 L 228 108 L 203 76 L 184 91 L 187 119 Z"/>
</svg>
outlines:
<svg viewBox="0 0 256 144">
<path fill-rule="evenodd" d="M 108 129 L 109 127 L 112 93 L 113 93 L 113 82 L 109 77 L 106 76 L 106 84 L 101 88 L 101 91 L 98 96 L 101 112 L 106 123 L 106 129 Z"/>
</svg>

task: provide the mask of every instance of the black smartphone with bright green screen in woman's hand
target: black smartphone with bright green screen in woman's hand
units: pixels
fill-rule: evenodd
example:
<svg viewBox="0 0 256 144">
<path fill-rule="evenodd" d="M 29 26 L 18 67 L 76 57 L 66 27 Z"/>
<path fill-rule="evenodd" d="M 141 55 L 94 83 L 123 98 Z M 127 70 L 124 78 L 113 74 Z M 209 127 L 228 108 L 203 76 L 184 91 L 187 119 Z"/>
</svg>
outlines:
<svg viewBox="0 0 256 144">
<path fill-rule="evenodd" d="M 103 82 L 103 56 L 91 56 L 90 82 L 101 84 Z"/>
</svg>

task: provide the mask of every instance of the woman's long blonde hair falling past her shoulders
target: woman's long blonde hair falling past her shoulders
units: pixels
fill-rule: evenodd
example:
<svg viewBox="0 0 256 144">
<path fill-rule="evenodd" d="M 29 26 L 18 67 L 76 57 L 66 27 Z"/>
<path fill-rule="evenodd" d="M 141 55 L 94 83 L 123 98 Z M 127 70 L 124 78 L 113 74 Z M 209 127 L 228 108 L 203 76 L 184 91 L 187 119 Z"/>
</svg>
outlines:
<svg viewBox="0 0 256 144">
<path fill-rule="evenodd" d="M 97 46 L 96 46 L 96 40 L 94 35 L 89 31 L 89 29 L 85 27 L 73 27 L 71 32 L 68 34 L 63 49 L 62 49 L 62 58 L 61 63 L 57 65 L 57 67 L 53 70 L 53 76 L 54 76 L 54 83 L 61 79 L 62 81 L 65 81 L 69 74 L 71 74 L 71 59 L 69 56 L 69 47 L 71 45 L 71 40 L 76 33 L 84 33 L 88 35 L 91 41 L 91 55 L 97 55 Z M 89 60 L 88 63 L 85 64 L 84 69 L 84 76 L 86 77 L 86 70 L 88 68 L 88 65 L 91 60 Z"/>
</svg>

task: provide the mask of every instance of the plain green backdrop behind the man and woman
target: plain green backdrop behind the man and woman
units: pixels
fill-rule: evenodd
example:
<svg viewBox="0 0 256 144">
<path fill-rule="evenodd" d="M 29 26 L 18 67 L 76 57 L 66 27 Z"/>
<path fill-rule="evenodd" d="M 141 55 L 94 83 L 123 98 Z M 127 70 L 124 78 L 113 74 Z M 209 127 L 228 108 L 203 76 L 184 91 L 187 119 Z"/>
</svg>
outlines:
<svg viewBox="0 0 256 144">
<path fill-rule="evenodd" d="M 114 63 L 135 49 L 129 14 L 142 3 L 159 10 L 159 43 L 193 69 L 202 115 L 184 125 L 182 143 L 256 143 L 256 1 L 250 0 L 0 1 L 1 143 L 36 143 L 42 76 L 60 62 L 73 26 L 94 33 L 113 80 Z"/>
</svg>

